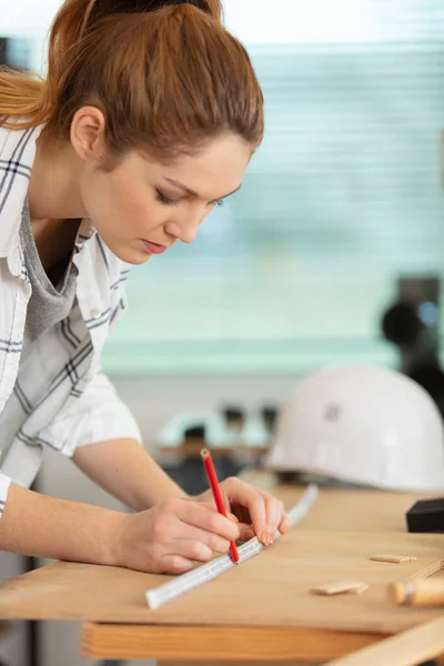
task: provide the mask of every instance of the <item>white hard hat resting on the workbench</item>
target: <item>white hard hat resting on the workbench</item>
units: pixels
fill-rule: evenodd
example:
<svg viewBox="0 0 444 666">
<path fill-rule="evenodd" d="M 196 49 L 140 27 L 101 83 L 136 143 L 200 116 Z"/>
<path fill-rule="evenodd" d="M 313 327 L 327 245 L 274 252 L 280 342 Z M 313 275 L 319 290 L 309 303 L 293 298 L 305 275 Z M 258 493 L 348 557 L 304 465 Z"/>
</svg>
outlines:
<svg viewBox="0 0 444 666">
<path fill-rule="evenodd" d="M 266 465 L 402 491 L 444 490 L 444 428 L 405 375 L 372 365 L 304 377 L 282 406 Z"/>
</svg>

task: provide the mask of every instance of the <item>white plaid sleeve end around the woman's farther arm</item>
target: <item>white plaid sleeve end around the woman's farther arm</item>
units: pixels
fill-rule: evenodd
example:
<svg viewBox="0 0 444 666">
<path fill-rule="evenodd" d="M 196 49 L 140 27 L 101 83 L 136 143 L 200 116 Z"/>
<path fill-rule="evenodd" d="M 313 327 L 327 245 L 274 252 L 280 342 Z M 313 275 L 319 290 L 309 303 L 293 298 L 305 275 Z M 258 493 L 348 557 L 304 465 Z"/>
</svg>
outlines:
<svg viewBox="0 0 444 666">
<path fill-rule="evenodd" d="M 120 438 L 142 443 L 134 416 L 103 372 L 93 376 L 75 406 L 51 425 L 51 440 L 68 457 L 78 446 Z"/>
</svg>

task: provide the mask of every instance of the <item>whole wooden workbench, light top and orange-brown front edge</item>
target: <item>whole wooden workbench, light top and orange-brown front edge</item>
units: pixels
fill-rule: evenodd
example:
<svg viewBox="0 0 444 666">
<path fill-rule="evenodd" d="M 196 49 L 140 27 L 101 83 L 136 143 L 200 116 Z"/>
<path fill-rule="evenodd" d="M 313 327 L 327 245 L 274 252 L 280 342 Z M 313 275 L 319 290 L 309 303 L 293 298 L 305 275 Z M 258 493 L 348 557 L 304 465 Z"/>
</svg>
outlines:
<svg viewBox="0 0 444 666">
<path fill-rule="evenodd" d="M 275 487 L 266 473 L 243 476 L 280 496 L 286 506 L 303 493 L 299 487 Z M 185 660 L 212 666 L 242 660 L 323 663 L 440 614 L 438 609 L 392 607 L 384 595 L 390 579 L 415 575 L 444 559 L 444 536 L 405 534 L 405 512 L 418 498 L 322 488 L 309 516 L 276 544 L 278 559 L 273 549 L 266 549 L 155 612 L 148 609 L 142 593 L 162 577 L 59 563 L 0 586 L 0 617 L 81 620 L 82 654 L 89 658 L 151 657 L 170 666 L 176 662 L 183 666 Z M 416 554 L 417 565 L 402 569 L 369 565 L 367 555 L 383 545 Z M 289 596 L 285 572 L 294 571 L 294 553 L 300 575 L 292 581 Z M 356 575 L 365 572 L 369 593 L 345 603 L 344 597 L 309 596 L 315 581 L 344 577 L 344 567 Z M 273 571 L 270 579 L 263 577 L 264 571 Z M 278 591 L 274 598 L 273 589 Z M 243 612 L 245 599 L 250 601 Z"/>
</svg>

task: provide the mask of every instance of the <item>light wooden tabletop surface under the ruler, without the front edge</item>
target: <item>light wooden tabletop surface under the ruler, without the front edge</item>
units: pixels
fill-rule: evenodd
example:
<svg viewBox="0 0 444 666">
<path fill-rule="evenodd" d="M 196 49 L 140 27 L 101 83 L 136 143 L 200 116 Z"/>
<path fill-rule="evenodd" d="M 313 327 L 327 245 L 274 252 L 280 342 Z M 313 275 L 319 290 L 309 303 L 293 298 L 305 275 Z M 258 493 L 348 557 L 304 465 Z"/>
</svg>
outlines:
<svg viewBox="0 0 444 666">
<path fill-rule="evenodd" d="M 307 627 L 391 634 L 435 617 L 440 609 L 390 603 L 400 567 L 372 562 L 374 552 L 413 555 L 403 577 L 442 567 L 444 535 L 292 529 L 273 546 L 157 610 L 144 592 L 169 579 L 117 567 L 58 563 L 0 585 L 0 618 L 103 623 Z M 312 587 L 353 578 L 361 595 L 316 597 Z"/>
</svg>

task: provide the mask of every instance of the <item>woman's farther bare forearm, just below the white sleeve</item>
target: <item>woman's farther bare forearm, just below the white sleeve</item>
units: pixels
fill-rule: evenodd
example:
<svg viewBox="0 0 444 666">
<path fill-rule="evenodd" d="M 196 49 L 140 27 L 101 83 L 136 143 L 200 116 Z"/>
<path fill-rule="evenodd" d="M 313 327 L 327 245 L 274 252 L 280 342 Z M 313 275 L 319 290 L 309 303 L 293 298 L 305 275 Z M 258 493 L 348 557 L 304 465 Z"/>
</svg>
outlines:
<svg viewBox="0 0 444 666">
<path fill-rule="evenodd" d="M 94 483 L 135 511 L 186 497 L 135 440 L 80 446 L 73 460 Z"/>
</svg>

